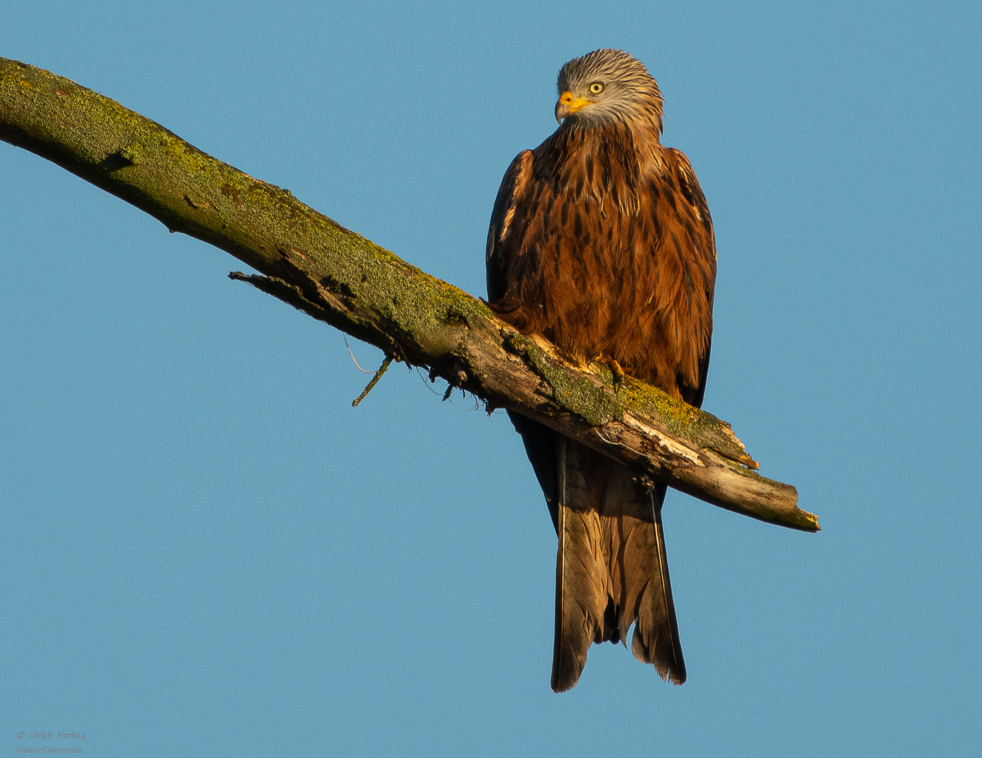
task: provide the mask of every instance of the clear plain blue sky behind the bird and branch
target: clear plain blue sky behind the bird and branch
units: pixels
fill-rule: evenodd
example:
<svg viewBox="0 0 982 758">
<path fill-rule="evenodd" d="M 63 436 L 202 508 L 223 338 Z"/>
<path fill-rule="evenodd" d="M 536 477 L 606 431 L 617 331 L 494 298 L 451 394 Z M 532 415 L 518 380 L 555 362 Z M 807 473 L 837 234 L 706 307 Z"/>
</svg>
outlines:
<svg viewBox="0 0 982 758">
<path fill-rule="evenodd" d="M 204 6 L 4 2 L 0 55 L 474 295 L 560 66 L 640 58 L 716 223 L 705 406 L 824 531 L 670 495 L 688 682 L 605 645 L 554 695 L 504 415 L 404 367 L 352 408 L 338 332 L 0 143 L 0 749 L 978 755 L 978 3 Z"/>
</svg>

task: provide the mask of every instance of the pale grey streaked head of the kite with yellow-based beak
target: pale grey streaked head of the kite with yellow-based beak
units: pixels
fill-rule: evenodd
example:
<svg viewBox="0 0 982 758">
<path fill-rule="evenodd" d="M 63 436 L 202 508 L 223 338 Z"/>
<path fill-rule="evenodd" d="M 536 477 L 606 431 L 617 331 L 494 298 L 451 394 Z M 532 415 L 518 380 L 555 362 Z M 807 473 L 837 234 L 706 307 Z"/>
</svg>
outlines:
<svg viewBox="0 0 982 758">
<path fill-rule="evenodd" d="M 662 131 L 662 93 L 644 64 L 623 50 L 594 50 L 559 73 L 556 121 L 591 127 L 649 121 Z"/>
</svg>

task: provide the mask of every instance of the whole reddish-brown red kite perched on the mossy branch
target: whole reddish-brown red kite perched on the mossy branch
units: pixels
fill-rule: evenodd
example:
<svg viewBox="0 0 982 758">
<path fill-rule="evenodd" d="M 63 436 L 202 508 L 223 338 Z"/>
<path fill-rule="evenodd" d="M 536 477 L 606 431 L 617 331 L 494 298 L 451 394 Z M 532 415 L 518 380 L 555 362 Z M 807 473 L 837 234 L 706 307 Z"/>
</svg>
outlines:
<svg viewBox="0 0 982 758">
<path fill-rule="evenodd" d="M 702 404 L 716 243 L 688 159 L 663 147 L 662 96 L 621 50 L 559 73 L 560 126 L 512 162 L 488 230 L 488 302 L 523 334 Z M 552 688 L 591 643 L 624 641 L 685 680 L 662 529 L 666 486 L 510 412 L 559 536 Z"/>
</svg>

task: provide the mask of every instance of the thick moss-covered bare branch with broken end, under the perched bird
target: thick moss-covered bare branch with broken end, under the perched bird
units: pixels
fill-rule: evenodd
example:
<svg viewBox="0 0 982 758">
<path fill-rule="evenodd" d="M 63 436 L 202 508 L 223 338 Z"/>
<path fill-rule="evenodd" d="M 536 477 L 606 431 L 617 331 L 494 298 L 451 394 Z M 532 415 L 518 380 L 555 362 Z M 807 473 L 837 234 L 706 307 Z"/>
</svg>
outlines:
<svg viewBox="0 0 982 758">
<path fill-rule="evenodd" d="M 0 58 L 0 138 L 54 161 L 263 276 L 237 275 L 314 318 L 426 366 L 717 506 L 816 531 L 793 487 L 765 479 L 730 425 L 605 366 L 574 365 L 482 301 L 252 179 L 114 100 Z"/>
</svg>

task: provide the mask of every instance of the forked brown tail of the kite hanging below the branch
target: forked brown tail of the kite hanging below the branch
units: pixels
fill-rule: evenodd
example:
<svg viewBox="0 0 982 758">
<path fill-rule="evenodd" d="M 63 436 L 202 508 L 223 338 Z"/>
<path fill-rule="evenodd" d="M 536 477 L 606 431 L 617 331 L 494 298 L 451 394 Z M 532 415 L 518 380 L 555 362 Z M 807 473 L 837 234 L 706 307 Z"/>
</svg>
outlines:
<svg viewBox="0 0 982 758">
<path fill-rule="evenodd" d="M 663 678 L 685 680 L 661 507 L 630 470 L 566 438 L 557 441 L 556 636 L 552 688 L 571 689 L 591 643 L 627 641 Z"/>
</svg>

